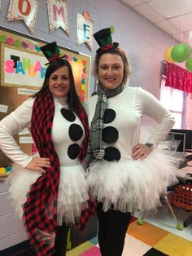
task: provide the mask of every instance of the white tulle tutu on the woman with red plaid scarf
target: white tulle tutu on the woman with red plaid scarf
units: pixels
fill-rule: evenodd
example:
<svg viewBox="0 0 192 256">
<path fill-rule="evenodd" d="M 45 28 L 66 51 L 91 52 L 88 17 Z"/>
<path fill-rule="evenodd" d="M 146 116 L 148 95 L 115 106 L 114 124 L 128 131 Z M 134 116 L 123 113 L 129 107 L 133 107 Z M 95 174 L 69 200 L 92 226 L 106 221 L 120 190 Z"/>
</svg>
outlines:
<svg viewBox="0 0 192 256">
<path fill-rule="evenodd" d="M 15 212 L 19 214 L 20 218 L 22 218 L 22 205 L 26 201 L 30 185 L 40 176 L 41 174 L 35 170 L 27 170 L 20 165 L 13 165 L 13 173 L 8 179 L 11 184 L 9 191 Z M 80 164 L 61 167 L 57 206 L 58 224 L 78 222 L 81 210 L 87 208 L 88 199 L 88 186 L 83 167 Z"/>
</svg>

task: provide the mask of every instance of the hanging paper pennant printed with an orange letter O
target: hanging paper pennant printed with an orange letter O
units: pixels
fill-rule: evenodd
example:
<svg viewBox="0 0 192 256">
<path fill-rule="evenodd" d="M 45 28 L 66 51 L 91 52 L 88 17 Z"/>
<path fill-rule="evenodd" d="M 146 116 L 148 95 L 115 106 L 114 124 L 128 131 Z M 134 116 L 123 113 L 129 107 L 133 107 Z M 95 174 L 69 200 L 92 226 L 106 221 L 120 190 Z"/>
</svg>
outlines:
<svg viewBox="0 0 192 256">
<path fill-rule="evenodd" d="M 24 20 L 31 33 L 34 31 L 34 24 L 37 17 L 39 0 L 10 0 L 7 20 Z"/>
</svg>

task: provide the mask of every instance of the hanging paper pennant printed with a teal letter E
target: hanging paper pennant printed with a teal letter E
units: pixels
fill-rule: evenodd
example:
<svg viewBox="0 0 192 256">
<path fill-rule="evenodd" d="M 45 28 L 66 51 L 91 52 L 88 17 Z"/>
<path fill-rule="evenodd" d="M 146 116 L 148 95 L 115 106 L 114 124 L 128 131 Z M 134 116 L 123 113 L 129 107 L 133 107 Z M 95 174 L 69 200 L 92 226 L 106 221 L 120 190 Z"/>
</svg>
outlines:
<svg viewBox="0 0 192 256">
<path fill-rule="evenodd" d="M 88 20 L 87 11 L 84 15 L 77 14 L 77 37 L 76 37 L 76 45 L 81 45 L 86 42 L 89 46 L 90 50 L 93 51 L 94 46 L 94 22 L 92 20 Z"/>
</svg>

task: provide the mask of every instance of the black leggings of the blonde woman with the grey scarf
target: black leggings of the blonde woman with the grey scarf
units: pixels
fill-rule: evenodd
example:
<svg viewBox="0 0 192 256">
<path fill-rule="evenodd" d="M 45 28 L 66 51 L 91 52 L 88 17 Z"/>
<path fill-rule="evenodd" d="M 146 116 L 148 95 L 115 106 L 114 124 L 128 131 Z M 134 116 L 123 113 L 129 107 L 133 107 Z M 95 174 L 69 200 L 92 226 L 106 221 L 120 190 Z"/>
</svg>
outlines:
<svg viewBox="0 0 192 256">
<path fill-rule="evenodd" d="M 98 203 L 98 244 L 102 256 L 121 256 L 124 238 L 132 218 L 130 213 L 118 210 L 104 212 Z"/>
</svg>

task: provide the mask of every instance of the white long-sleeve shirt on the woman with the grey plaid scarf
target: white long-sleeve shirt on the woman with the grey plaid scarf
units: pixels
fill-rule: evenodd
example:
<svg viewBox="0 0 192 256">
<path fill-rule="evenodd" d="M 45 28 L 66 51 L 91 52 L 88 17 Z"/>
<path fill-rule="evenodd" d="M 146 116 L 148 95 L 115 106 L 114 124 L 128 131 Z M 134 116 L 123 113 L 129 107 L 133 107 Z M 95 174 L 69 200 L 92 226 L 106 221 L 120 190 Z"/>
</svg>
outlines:
<svg viewBox="0 0 192 256">
<path fill-rule="evenodd" d="M 89 125 L 94 117 L 97 99 L 98 95 L 94 95 L 88 100 L 86 105 Z M 128 87 L 119 95 L 108 98 L 107 109 L 114 111 L 116 117 L 110 122 L 104 122 L 103 129 L 113 127 L 117 132 L 114 132 L 114 129 L 108 129 L 103 136 L 107 136 L 110 139 L 110 137 L 112 138 L 113 135 L 118 133 L 118 139 L 115 142 L 111 140 L 112 143 L 104 141 L 104 147 L 117 148 L 120 152 L 120 160 L 131 158 L 133 147 L 139 143 L 142 117 L 144 115 L 151 117 L 157 122 L 155 130 L 147 140 L 148 143 L 157 145 L 163 141 L 174 125 L 174 118 L 169 111 L 160 104 L 154 95 L 140 87 Z M 105 138 L 104 140 L 107 141 Z"/>
</svg>

